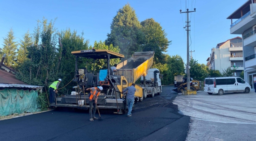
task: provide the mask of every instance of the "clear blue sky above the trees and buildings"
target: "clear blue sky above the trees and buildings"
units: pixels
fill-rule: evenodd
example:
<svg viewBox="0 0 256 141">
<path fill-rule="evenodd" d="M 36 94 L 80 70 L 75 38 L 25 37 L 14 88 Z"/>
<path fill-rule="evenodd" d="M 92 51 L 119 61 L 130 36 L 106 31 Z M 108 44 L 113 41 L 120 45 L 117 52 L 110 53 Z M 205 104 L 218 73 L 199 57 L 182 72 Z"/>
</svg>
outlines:
<svg viewBox="0 0 256 141">
<path fill-rule="evenodd" d="M 135 10 L 139 22 L 154 20 L 167 33 L 169 45 L 166 54 L 180 55 L 187 62 L 186 14 L 191 21 L 190 50 L 198 63 L 206 64 L 211 49 L 217 43 L 241 35 L 230 34 L 231 20 L 226 19 L 247 0 L 0 0 L 0 48 L 3 38 L 12 28 L 16 42 L 29 30 L 33 33 L 37 20 L 58 18 L 54 27 L 58 31 L 70 28 L 84 33 L 90 45 L 105 41 L 110 24 L 117 11 L 125 4 Z"/>
</svg>

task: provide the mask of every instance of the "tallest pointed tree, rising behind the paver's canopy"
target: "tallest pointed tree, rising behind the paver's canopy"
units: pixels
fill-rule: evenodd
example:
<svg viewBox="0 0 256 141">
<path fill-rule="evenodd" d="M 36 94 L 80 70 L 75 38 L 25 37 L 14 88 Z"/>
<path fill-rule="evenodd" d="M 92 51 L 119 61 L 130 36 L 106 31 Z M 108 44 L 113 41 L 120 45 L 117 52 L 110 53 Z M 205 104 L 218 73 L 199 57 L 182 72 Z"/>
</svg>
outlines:
<svg viewBox="0 0 256 141">
<path fill-rule="evenodd" d="M 141 51 L 141 46 L 145 42 L 144 34 L 135 10 L 129 4 L 117 11 L 110 29 L 111 33 L 107 34 L 106 45 L 119 46 L 120 53 L 124 54 L 126 59 L 134 52 Z"/>
</svg>

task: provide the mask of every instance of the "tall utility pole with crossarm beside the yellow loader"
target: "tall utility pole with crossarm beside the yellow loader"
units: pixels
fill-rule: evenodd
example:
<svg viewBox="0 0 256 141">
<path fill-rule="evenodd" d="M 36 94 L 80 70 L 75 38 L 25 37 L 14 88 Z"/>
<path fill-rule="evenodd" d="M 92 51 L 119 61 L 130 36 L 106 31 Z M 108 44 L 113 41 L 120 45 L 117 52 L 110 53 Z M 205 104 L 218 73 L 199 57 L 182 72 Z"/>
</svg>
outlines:
<svg viewBox="0 0 256 141">
<path fill-rule="evenodd" d="M 190 71 L 189 71 L 189 69 L 190 69 L 190 65 L 189 65 L 189 27 L 190 27 L 190 25 L 189 25 L 189 13 L 191 13 L 191 12 L 195 12 L 196 11 L 196 9 L 194 8 L 194 11 L 188 11 L 189 9 L 187 9 L 187 11 L 186 12 L 181 12 L 182 10 L 180 10 L 180 13 L 186 13 L 187 14 L 187 25 L 186 25 L 186 27 L 187 27 L 187 29 L 186 29 L 186 31 L 187 31 L 187 66 L 186 66 L 186 69 L 187 69 L 187 90 L 188 91 L 190 91 Z"/>
</svg>

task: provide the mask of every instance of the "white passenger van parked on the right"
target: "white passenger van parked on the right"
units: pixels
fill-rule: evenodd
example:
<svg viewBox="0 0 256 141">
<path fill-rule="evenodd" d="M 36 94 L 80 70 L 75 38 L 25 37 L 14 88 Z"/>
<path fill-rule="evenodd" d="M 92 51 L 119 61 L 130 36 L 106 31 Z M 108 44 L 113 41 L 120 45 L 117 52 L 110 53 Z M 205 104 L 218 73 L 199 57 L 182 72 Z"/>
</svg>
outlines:
<svg viewBox="0 0 256 141">
<path fill-rule="evenodd" d="M 249 83 L 239 77 L 205 78 L 204 92 L 223 95 L 226 92 L 250 92 Z"/>
</svg>

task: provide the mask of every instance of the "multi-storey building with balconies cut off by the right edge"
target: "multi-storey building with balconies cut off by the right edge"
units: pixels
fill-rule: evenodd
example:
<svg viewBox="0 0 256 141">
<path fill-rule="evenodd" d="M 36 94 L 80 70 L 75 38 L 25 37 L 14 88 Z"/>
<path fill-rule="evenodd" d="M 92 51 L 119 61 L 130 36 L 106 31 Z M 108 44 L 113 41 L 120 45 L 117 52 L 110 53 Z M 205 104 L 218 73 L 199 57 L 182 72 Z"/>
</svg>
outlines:
<svg viewBox="0 0 256 141">
<path fill-rule="evenodd" d="M 243 38 L 243 60 L 245 81 L 253 87 L 256 77 L 256 0 L 247 0 L 227 19 L 231 20 L 230 34 Z"/>
</svg>

